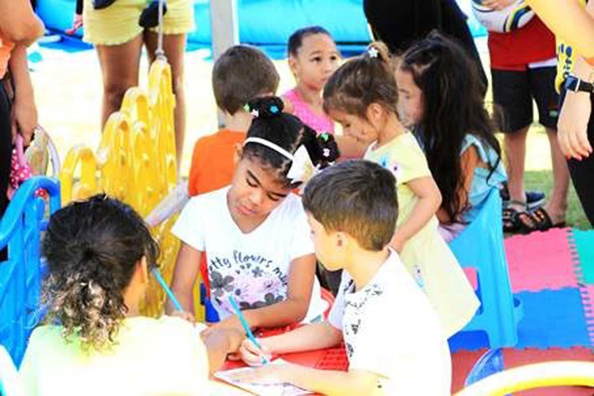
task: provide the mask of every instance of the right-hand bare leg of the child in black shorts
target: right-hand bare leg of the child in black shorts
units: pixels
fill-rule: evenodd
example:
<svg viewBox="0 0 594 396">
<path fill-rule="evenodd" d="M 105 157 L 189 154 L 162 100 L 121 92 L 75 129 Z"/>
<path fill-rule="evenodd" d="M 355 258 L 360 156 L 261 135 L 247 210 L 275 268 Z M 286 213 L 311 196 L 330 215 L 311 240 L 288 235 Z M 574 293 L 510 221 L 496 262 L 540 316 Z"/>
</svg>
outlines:
<svg viewBox="0 0 594 396">
<path fill-rule="evenodd" d="M 551 191 L 551 196 L 548 202 L 546 202 L 544 209 L 551 217 L 552 223 L 557 224 L 565 221 L 565 215 L 567 213 L 569 171 L 567 169 L 565 157 L 559 149 L 559 143 L 557 142 L 557 132 L 546 128 L 546 136 L 548 136 L 549 144 L 551 145 L 554 184 Z"/>
</svg>

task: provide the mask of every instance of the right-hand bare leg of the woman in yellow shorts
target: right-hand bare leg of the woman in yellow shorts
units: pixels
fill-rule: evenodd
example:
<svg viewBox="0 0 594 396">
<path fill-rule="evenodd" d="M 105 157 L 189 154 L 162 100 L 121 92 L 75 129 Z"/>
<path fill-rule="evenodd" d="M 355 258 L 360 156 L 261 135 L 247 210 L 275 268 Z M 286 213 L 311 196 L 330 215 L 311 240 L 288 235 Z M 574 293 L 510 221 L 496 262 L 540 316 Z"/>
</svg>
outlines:
<svg viewBox="0 0 594 396">
<path fill-rule="evenodd" d="M 147 46 L 149 61 L 155 59 L 157 49 L 157 33 L 144 32 L 144 42 Z M 185 137 L 185 95 L 184 95 L 184 55 L 186 47 L 185 34 L 165 34 L 163 36 L 163 51 L 171 65 L 172 89 L 175 95 L 175 152 L 178 164 L 178 174 L 181 171 L 182 153 L 184 152 Z"/>
</svg>

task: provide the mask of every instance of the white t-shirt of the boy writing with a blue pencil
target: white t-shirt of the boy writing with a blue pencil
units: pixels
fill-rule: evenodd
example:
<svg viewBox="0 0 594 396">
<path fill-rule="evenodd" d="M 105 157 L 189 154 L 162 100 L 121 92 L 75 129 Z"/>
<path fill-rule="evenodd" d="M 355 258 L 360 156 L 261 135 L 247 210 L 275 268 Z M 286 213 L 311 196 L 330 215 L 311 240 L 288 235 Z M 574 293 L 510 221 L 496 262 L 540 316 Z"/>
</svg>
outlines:
<svg viewBox="0 0 594 396">
<path fill-rule="evenodd" d="M 328 317 L 349 370 L 381 376 L 374 395 L 450 395 L 450 350 L 437 313 L 395 252 L 361 290 L 343 271 Z"/>
</svg>

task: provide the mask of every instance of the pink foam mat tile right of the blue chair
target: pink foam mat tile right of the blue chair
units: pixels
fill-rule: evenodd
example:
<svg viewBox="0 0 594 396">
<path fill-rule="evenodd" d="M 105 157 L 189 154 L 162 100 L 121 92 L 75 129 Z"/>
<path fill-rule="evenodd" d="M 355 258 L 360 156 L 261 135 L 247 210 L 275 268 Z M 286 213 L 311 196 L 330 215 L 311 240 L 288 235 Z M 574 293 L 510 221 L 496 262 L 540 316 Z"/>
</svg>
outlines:
<svg viewBox="0 0 594 396">
<path fill-rule="evenodd" d="M 555 228 L 505 240 L 514 293 L 577 286 L 575 259 L 567 240 L 568 232 L 569 228 Z"/>
</svg>

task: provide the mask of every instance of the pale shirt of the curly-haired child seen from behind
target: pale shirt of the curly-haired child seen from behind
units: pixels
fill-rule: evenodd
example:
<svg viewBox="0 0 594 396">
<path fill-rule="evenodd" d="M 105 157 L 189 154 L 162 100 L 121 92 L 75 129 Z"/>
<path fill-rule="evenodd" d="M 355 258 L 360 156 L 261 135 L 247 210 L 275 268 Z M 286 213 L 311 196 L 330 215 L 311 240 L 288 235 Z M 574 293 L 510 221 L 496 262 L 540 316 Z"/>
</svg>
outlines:
<svg viewBox="0 0 594 396">
<path fill-rule="evenodd" d="M 19 376 L 24 394 L 208 395 L 204 325 L 163 316 L 127 318 L 109 350 L 83 350 L 61 326 L 31 334 Z"/>
</svg>

